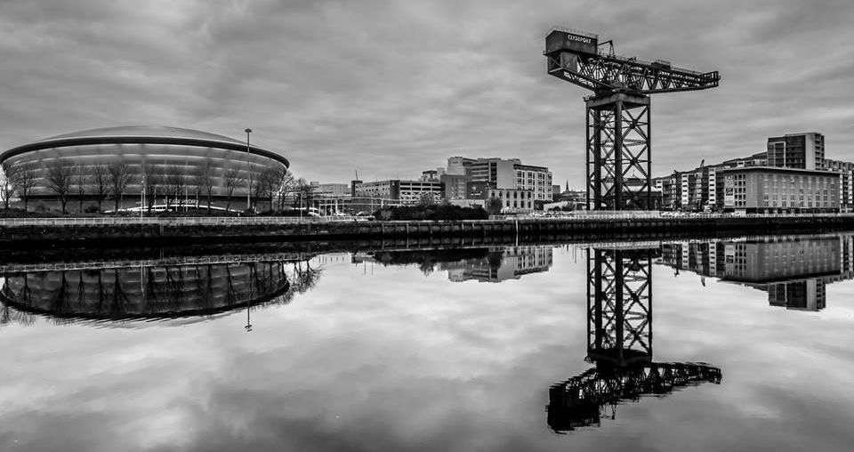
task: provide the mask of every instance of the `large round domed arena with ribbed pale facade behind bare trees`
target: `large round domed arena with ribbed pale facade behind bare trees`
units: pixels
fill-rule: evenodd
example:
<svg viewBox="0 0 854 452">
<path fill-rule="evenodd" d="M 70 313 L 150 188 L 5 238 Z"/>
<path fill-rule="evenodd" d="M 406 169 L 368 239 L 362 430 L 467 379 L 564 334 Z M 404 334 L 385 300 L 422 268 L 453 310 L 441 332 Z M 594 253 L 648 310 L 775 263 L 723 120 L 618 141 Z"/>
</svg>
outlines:
<svg viewBox="0 0 854 452">
<path fill-rule="evenodd" d="M 247 141 L 136 125 L 31 142 L 0 154 L 0 165 L 23 208 L 96 212 L 262 209 L 290 163 Z"/>
</svg>

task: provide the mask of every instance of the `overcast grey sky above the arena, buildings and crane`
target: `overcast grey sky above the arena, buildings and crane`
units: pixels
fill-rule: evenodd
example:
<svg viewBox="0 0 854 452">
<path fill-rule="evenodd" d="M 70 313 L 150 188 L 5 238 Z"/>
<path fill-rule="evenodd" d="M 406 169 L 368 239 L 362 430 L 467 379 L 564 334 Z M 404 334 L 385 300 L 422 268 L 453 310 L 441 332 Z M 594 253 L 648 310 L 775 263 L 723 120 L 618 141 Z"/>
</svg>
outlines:
<svg viewBox="0 0 854 452">
<path fill-rule="evenodd" d="M 0 0 L 0 149 L 117 125 L 242 138 L 319 182 L 518 157 L 584 186 L 583 88 L 548 76 L 554 26 L 718 70 L 653 96 L 653 175 L 816 131 L 854 157 L 854 3 Z"/>
</svg>

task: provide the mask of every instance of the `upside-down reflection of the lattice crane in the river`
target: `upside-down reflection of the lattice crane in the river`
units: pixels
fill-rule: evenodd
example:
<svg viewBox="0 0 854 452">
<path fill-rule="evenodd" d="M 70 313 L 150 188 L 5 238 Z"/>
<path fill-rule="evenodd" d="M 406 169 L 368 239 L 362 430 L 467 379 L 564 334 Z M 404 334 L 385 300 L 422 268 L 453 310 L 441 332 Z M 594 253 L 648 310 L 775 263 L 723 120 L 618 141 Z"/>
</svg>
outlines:
<svg viewBox="0 0 854 452">
<path fill-rule="evenodd" d="M 660 254 L 644 246 L 587 250 L 586 360 L 595 367 L 549 389 L 552 431 L 599 425 L 616 417 L 617 404 L 643 395 L 721 383 L 717 367 L 652 360 L 652 261 Z"/>
</svg>

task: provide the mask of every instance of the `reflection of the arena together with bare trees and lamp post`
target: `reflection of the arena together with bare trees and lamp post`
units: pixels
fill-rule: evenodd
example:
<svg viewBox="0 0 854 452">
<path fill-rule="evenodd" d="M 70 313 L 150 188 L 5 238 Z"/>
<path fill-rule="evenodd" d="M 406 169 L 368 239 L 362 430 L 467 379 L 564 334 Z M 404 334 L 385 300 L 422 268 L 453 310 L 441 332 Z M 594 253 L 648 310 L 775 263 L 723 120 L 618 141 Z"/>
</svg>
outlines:
<svg viewBox="0 0 854 452">
<path fill-rule="evenodd" d="M 59 270 L 57 270 L 59 268 Z M 232 255 L 154 262 L 67 262 L 0 274 L 0 324 L 56 321 L 205 319 L 222 312 L 289 303 L 321 269 L 308 260 Z"/>
</svg>

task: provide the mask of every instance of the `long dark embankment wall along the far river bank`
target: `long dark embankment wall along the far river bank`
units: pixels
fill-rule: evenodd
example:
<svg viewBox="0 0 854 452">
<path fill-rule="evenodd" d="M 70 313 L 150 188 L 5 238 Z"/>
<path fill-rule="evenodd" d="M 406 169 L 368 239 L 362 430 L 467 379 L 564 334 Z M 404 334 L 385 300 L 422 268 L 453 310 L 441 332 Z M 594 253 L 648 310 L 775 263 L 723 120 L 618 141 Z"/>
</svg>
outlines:
<svg viewBox="0 0 854 452">
<path fill-rule="evenodd" d="M 147 246 L 318 239 L 411 238 L 488 243 L 512 237 L 528 241 L 559 238 L 657 238 L 722 232 L 773 233 L 854 229 L 854 215 L 763 217 L 640 217 L 504 219 L 458 222 L 249 222 L 215 224 L 205 219 L 157 219 L 140 224 L 9 224 L 0 226 L 0 246 Z"/>
</svg>

